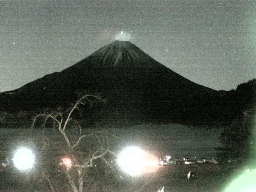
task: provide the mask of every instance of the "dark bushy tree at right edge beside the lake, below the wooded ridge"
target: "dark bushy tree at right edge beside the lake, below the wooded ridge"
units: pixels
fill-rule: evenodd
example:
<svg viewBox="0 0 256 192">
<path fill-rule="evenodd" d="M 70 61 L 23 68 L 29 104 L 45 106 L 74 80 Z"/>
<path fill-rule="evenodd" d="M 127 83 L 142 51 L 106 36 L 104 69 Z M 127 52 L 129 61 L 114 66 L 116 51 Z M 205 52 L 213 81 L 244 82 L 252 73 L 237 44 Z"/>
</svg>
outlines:
<svg viewBox="0 0 256 192">
<path fill-rule="evenodd" d="M 254 160 L 255 131 L 255 112 L 244 112 L 243 118 L 234 120 L 229 128 L 220 134 L 222 147 L 216 148 L 218 160 L 222 163 Z"/>
</svg>

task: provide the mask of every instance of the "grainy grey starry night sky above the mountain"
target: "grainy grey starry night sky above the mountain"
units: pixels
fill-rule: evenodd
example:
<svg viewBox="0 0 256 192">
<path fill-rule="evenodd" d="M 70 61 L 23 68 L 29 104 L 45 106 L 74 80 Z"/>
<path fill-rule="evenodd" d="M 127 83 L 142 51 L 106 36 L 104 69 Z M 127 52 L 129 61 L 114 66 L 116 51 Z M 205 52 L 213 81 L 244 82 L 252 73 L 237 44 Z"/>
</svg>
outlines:
<svg viewBox="0 0 256 192">
<path fill-rule="evenodd" d="M 0 0 L 0 92 L 130 40 L 216 90 L 256 78 L 256 0 Z"/>
</svg>

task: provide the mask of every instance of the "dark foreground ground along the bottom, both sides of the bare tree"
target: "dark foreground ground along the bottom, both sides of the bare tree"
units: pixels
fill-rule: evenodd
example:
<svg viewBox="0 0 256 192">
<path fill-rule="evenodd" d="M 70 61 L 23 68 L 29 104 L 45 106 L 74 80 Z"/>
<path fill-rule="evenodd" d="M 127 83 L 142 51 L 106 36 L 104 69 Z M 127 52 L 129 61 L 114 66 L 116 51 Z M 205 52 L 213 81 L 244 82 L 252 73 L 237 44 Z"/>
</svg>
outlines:
<svg viewBox="0 0 256 192">
<path fill-rule="evenodd" d="M 166 165 L 159 166 L 155 173 L 144 174 L 140 177 L 122 177 L 124 186 L 101 186 L 90 189 L 91 192 L 157 192 L 164 186 L 164 192 L 222 192 L 234 178 L 234 174 L 242 172 L 235 169 L 237 165 L 218 166 L 212 164 L 188 164 L 188 165 Z M 187 179 L 188 171 L 196 172 L 196 178 Z M 16 177 L 16 178 L 15 178 Z M 26 176 L 25 176 L 26 177 Z M 10 180 L 19 180 L 11 182 Z M 10 178 L 1 174 L 1 192 L 51 192 L 48 186 L 36 190 L 33 188 L 33 180 L 19 178 L 18 175 Z M 23 181 L 22 181 L 23 180 Z M 111 183 L 111 182 L 110 182 Z M 63 184 L 65 185 L 65 184 Z M 56 189 L 56 191 L 58 191 Z M 61 190 L 62 191 L 62 190 Z M 70 191 L 70 190 L 67 190 Z M 86 188 L 84 191 L 87 191 Z"/>
</svg>

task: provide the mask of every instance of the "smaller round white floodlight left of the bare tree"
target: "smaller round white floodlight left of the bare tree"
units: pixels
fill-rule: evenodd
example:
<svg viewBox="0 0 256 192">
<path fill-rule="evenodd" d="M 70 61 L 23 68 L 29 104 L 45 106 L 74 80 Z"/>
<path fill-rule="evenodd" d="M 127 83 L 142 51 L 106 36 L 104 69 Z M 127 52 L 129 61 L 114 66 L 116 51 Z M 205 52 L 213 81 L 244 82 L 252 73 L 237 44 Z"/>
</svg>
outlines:
<svg viewBox="0 0 256 192">
<path fill-rule="evenodd" d="M 18 149 L 13 157 L 14 166 L 20 170 L 29 170 L 35 162 L 35 156 L 28 148 Z"/>
</svg>

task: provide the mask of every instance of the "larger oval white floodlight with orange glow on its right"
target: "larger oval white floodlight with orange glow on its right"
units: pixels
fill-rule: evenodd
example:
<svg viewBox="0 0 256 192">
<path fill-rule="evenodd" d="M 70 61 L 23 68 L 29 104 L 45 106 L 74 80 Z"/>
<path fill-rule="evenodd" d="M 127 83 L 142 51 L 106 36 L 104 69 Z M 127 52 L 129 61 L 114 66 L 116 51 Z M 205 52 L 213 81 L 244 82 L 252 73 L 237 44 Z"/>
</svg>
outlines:
<svg viewBox="0 0 256 192">
<path fill-rule="evenodd" d="M 118 165 L 131 176 L 154 172 L 158 167 L 157 158 L 136 146 L 124 148 L 118 155 Z"/>
</svg>

